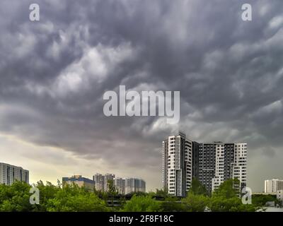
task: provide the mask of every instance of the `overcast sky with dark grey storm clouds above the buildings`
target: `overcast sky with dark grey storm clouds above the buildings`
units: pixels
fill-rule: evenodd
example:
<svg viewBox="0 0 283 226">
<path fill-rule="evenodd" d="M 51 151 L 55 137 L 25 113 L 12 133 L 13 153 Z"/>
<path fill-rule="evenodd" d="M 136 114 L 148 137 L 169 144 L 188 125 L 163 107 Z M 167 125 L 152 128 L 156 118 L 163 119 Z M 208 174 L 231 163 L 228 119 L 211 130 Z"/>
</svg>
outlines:
<svg viewBox="0 0 283 226">
<path fill-rule="evenodd" d="M 40 21 L 29 6 L 40 5 Z M 283 179 L 283 1 L 2 0 L 0 162 L 30 182 L 96 172 L 161 188 L 161 142 L 248 143 L 248 186 Z M 180 91 L 180 123 L 105 117 L 103 93 Z"/>
</svg>

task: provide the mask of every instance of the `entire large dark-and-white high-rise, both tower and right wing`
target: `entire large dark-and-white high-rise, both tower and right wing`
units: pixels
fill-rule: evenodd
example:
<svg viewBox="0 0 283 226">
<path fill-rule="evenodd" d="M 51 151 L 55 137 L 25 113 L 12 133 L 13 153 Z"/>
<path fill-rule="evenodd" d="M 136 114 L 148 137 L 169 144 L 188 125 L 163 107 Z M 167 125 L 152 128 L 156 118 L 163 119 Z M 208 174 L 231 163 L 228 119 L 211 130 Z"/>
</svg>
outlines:
<svg viewBox="0 0 283 226">
<path fill-rule="evenodd" d="M 185 196 L 192 177 L 209 192 L 230 178 L 246 186 L 247 143 L 197 143 L 179 132 L 163 141 L 162 154 L 163 187 L 173 196 Z"/>
</svg>

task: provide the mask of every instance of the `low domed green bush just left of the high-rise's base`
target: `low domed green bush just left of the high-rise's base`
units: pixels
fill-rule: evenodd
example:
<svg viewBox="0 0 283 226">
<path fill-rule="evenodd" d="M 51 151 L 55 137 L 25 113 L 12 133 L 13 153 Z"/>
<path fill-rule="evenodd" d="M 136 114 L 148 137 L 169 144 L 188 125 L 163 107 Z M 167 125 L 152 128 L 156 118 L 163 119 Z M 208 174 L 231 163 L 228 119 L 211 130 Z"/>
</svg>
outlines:
<svg viewBox="0 0 283 226">
<path fill-rule="evenodd" d="M 132 196 L 127 201 L 123 212 L 157 212 L 161 211 L 161 203 L 151 198 L 151 196 Z"/>
</svg>

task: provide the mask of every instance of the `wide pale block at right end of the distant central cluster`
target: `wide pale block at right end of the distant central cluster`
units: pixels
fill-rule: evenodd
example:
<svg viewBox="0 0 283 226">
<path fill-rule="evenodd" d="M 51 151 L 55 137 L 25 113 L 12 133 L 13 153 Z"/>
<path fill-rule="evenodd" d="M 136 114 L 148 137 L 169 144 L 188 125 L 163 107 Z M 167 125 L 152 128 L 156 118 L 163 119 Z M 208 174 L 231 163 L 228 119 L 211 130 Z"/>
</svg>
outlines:
<svg viewBox="0 0 283 226">
<path fill-rule="evenodd" d="M 121 178 L 114 179 L 115 191 L 119 194 L 131 194 L 133 192 L 146 192 L 146 182 L 143 179 L 137 178 Z"/>
</svg>

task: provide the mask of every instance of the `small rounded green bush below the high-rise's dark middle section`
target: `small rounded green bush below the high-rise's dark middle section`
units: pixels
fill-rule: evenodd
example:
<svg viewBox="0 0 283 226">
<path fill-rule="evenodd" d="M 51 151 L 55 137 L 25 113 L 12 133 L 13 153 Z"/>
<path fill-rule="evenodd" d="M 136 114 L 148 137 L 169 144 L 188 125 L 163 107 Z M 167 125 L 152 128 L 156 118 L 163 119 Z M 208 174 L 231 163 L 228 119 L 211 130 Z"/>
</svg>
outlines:
<svg viewBox="0 0 283 226">
<path fill-rule="evenodd" d="M 204 212 L 209 203 L 209 197 L 189 192 L 186 198 L 182 198 L 182 203 L 187 212 Z"/>
</svg>

